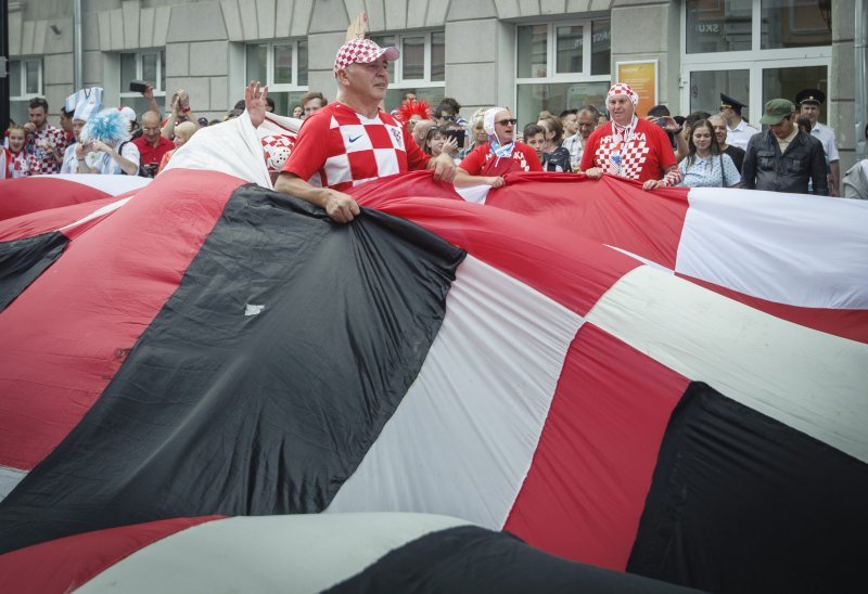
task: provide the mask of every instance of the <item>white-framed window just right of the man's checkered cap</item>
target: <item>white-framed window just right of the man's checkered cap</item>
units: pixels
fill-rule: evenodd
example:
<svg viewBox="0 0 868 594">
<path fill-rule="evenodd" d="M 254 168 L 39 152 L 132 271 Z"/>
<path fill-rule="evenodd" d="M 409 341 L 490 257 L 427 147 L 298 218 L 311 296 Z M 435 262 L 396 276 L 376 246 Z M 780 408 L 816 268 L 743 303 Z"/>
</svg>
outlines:
<svg viewBox="0 0 868 594">
<path fill-rule="evenodd" d="M 406 90 L 416 91 L 434 108 L 443 100 L 446 85 L 446 34 L 443 30 L 372 35 L 380 47 L 394 46 L 400 57 L 388 63 L 386 109 L 400 106 Z"/>
</svg>

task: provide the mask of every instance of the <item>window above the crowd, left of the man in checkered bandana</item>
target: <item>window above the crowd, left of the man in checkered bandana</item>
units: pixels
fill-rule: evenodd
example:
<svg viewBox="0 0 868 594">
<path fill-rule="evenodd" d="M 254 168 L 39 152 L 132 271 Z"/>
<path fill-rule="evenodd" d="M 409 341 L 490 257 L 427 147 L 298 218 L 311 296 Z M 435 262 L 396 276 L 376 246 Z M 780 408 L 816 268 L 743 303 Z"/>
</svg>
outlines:
<svg viewBox="0 0 868 594">
<path fill-rule="evenodd" d="M 611 65 L 610 21 L 540 23 L 516 28 L 519 125 L 535 122 L 541 109 L 603 107 Z"/>
</svg>

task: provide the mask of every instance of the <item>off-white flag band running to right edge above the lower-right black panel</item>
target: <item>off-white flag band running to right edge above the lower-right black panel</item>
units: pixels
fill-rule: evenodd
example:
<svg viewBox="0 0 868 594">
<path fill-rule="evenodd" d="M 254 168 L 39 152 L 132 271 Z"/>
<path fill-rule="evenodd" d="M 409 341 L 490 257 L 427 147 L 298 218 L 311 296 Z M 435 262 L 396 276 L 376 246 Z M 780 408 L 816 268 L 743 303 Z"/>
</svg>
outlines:
<svg viewBox="0 0 868 594">
<path fill-rule="evenodd" d="M 587 321 L 681 375 L 868 462 L 868 345 L 639 267 Z"/>
</svg>

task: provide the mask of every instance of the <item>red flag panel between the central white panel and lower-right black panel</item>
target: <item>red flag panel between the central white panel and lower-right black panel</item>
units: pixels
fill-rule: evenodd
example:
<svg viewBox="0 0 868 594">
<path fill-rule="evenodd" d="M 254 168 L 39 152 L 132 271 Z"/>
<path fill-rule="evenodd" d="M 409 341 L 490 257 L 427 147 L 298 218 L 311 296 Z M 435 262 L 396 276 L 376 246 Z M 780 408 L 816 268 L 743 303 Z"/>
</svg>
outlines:
<svg viewBox="0 0 868 594">
<path fill-rule="evenodd" d="M 624 570 L 663 434 L 688 383 L 583 325 L 503 529 L 556 555 Z"/>
</svg>

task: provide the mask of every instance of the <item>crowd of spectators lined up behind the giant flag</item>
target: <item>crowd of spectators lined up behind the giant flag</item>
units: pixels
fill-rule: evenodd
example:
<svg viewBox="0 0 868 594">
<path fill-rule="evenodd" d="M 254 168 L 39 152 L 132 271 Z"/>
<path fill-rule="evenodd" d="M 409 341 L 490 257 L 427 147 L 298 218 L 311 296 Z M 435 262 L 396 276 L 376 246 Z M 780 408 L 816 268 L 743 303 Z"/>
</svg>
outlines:
<svg viewBox="0 0 868 594">
<path fill-rule="evenodd" d="M 59 126 L 48 122 L 49 105 L 44 99 L 31 100 L 29 121 L 13 124 L 5 132 L 0 179 L 76 172 L 154 177 L 196 130 L 222 121 L 196 117 L 191 99 L 183 90 L 171 95 L 169 107 L 163 113 L 154 100 L 153 89 L 146 87 L 142 94 L 150 109 L 141 115 L 130 107 L 103 109 L 101 93 L 101 89 L 93 88 L 71 95 L 61 109 Z M 786 99 L 768 102 L 761 119 L 769 122 L 766 132 L 742 118 L 745 106 L 742 102 L 725 93 L 720 93 L 720 99 L 714 113 L 698 111 L 678 116 L 671 114 L 665 105 L 655 105 L 646 114 L 634 114 L 658 127 L 672 151 L 672 158 L 663 155 L 659 160 L 673 162 L 674 167 L 664 167 L 660 175 L 655 172 L 653 179 L 659 183 L 651 186 L 741 186 L 838 196 L 843 181 L 845 196 L 868 197 L 865 163 L 841 179 L 834 132 L 818 121 L 825 101 L 822 92 L 806 89 L 794 98 L 795 102 Z M 311 91 L 301 98 L 291 113 L 283 115 L 305 120 L 328 103 L 321 92 Z M 239 101 L 224 120 L 238 117 L 244 108 L 244 101 Z M 275 103 L 269 99 L 268 111 L 273 108 Z M 407 91 L 401 105 L 392 115 L 427 155 L 446 153 L 457 165 L 463 164 L 463 172 L 470 175 L 464 183 L 502 183 L 506 169 L 483 171 L 476 160 L 468 159 L 481 147 L 486 146 L 488 151 L 492 142 L 502 146 L 505 141 L 521 147 L 519 154 L 524 159 L 525 170 L 535 170 L 538 162 L 541 171 L 578 173 L 600 169 L 601 173 L 638 181 L 650 179 L 629 175 L 630 139 L 626 137 L 620 144 L 611 144 L 620 146 L 614 153 L 623 148 L 624 155 L 609 154 L 609 148 L 597 146 L 595 157 L 602 157 L 604 163 L 596 158 L 598 167 L 593 168 L 587 166 L 592 163 L 586 159 L 586 167 L 583 167 L 583 157 L 596 130 L 611 127 L 614 137 L 604 138 L 617 137 L 618 126 L 611 119 L 611 109 L 601 111 L 595 105 L 557 114 L 544 109 L 536 121 L 524 122 L 522 127 L 510 115 L 505 119 L 511 120 L 511 125 L 503 127 L 509 138 L 498 138 L 494 121 L 494 128 L 486 129 L 487 111 L 490 109 L 480 108 L 465 119 L 455 99 L 446 98 L 431 107 L 418 100 L 413 91 Z M 643 126 L 637 122 L 630 128 L 627 125 L 624 133 L 646 134 L 648 130 Z M 649 151 L 643 143 L 639 144 L 641 151 Z M 648 145 L 653 153 L 653 143 L 649 141 Z M 818 158 L 824 170 L 821 181 L 814 176 Z M 528 160 L 534 163 L 528 166 Z M 642 166 L 640 164 L 639 169 Z M 634 168 L 633 172 L 636 171 Z"/>
</svg>

